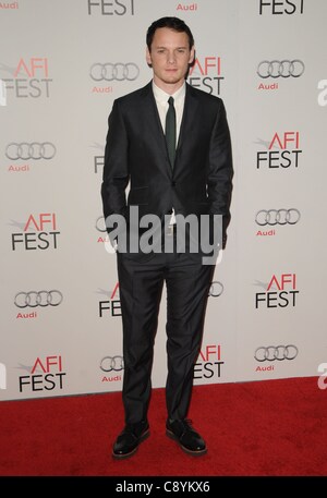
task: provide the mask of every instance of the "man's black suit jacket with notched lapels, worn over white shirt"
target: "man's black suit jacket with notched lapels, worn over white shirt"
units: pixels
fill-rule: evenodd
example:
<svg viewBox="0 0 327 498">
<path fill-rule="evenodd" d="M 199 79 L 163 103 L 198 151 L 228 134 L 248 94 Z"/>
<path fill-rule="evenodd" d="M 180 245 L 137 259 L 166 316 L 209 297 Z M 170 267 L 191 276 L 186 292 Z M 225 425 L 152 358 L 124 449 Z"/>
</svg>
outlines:
<svg viewBox="0 0 327 498">
<path fill-rule="evenodd" d="M 101 185 L 104 216 L 137 206 L 140 217 L 222 215 L 230 221 L 232 153 L 219 97 L 186 83 L 184 111 L 171 168 L 152 82 L 114 100 L 108 120 Z M 126 195 L 128 185 L 130 186 Z M 107 230 L 110 234 L 111 228 Z"/>
</svg>

